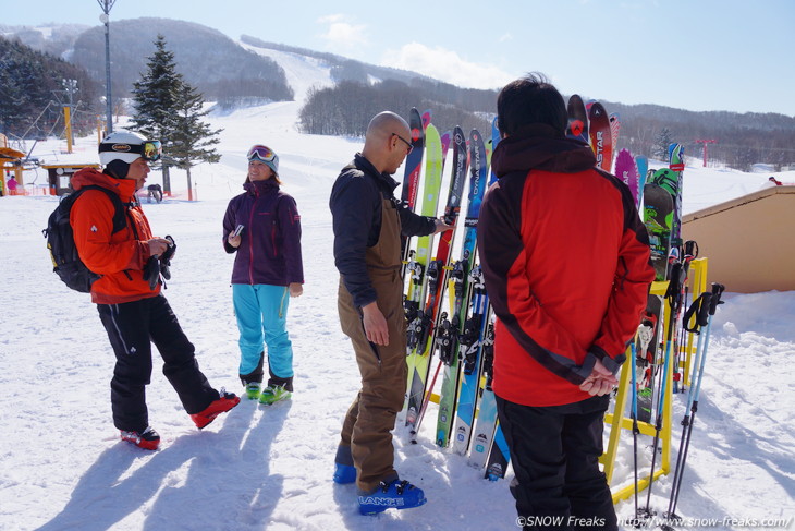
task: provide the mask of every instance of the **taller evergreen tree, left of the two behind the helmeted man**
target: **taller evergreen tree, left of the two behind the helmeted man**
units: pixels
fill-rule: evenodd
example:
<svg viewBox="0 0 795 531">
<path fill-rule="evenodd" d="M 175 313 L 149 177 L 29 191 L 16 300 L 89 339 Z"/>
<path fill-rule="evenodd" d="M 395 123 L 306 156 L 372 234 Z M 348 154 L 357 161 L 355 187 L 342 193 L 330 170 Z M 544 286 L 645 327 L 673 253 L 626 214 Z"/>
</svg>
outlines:
<svg viewBox="0 0 795 531">
<path fill-rule="evenodd" d="M 166 37 L 158 35 L 155 48 L 147 62 L 147 72 L 142 74 L 140 81 L 133 83 L 135 114 L 131 129 L 147 138 L 162 142 L 163 192 L 171 192 L 168 160 L 176 128 L 178 97 L 184 81 L 176 72 L 174 53 L 166 49 Z"/>
</svg>

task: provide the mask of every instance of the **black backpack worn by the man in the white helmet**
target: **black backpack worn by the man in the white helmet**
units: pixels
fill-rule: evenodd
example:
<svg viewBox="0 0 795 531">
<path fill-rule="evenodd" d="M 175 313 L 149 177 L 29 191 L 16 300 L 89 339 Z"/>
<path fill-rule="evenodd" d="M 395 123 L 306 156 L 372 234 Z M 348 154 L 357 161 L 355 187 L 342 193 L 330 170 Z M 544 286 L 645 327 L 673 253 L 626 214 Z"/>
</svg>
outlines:
<svg viewBox="0 0 795 531">
<path fill-rule="evenodd" d="M 90 185 L 80 189 L 61 200 L 47 220 L 47 228 L 41 233 L 47 238 L 47 249 L 50 250 L 53 271 L 63 280 L 63 283 L 81 293 L 90 293 L 91 285 L 101 277 L 86 267 L 77 254 L 74 244 L 72 225 L 69 222 L 69 213 L 72 205 L 86 190 L 101 190 L 113 203 L 113 232 L 117 233 L 127 226 L 127 214 L 121 197 L 102 186 Z"/>
</svg>

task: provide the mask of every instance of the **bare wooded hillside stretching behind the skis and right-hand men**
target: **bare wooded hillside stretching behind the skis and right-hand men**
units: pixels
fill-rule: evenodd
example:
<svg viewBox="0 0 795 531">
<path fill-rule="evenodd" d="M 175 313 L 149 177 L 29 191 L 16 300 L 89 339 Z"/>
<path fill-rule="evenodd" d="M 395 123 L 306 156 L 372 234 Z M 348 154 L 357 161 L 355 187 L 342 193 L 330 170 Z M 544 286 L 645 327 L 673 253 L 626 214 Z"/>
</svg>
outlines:
<svg viewBox="0 0 795 531">
<path fill-rule="evenodd" d="M 311 134 L 362 135 L 380 110 L 406 114 L 408 109 L 431 109 L 441 131 L 461 125 L 465 131 L 490 131 L 497 112 L 497 92 L 463 89 L 447 83 L 414 79 L 408 83 L 341 81 L 334 87 L 313 89 L 301 110 L 299 128 Z M 567 96 L 564 96 L 567 98 Z M 670 142 L 685 154 L 701 157 L 708 143 L 711 162 L 747 171 L 765 162 L 776 171 L 795 167 L 795 117 L 736 112 L 695 112 L 653 105 L 603 102 L 621 123 L 617 147 L 634 155 L 660 158 Z M 488 133 L 487 133 L 488 134 Z"/>
</svg>

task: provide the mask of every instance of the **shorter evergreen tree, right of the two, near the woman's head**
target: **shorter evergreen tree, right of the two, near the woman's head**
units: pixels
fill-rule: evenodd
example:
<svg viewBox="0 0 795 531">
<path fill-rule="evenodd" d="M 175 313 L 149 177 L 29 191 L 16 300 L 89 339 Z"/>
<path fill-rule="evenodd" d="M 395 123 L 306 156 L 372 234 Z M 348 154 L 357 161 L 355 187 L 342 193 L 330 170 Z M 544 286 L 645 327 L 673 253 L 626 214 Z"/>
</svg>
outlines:
<svg viewBox="0 0 795 531">
<path fill-rule="evenodd" d="M 191 168 L 201 162 L 218 162 L 221 156 L 211 146 L 219 143 L 221 129 L 212 131 L 201 121 L 208 110 L 201 110 L 204 97 L 193 86 L 182 83 L 174 106 L 174 130 L 169 146 L 170 157 L 178 168 L 187 172 L 188 200 L 193 200 Z"/>
</svg>

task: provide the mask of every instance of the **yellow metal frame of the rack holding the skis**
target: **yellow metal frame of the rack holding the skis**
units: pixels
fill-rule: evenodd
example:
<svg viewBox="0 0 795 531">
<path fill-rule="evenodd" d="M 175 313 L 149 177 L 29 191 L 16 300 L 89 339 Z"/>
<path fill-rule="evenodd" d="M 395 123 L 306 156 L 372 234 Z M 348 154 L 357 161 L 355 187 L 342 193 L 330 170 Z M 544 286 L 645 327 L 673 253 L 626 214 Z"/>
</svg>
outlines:
<svg viewBox="0 0 795 531">
<path fill-rule="evenodd" d="M 692 293 L 702 293 L 707 290 L 707 258 L 697 258 L 690 263 L 690 273 L 693 278 L 693 291 Z M 651 290 L 649 294 L 653 295 L 665 295 L 668 290 L 668 280 L 655 281 L 651 283 Z M 664 322 L 671 318 L 671 305 L 665 300 L 664 304 Z M 693 333 L 688 333 L 685 360 L 685 374 L 688 374 L 690 365 L 690 355 L 693 354 Z M 604 424 L 610 429 L 610 436 L 608 442 L 608 450 L 602 454 L 599 461 L 602 463 L 604 475 L 608 480 L 608 485 L 612 483 L 613 472 L 615 471 L 615 457 L 619 450 L 619 443 L 623 430 L 632 433 L 633 420 L 631 417 L 619 415 L 616 412 L 626 411 L 627 398 L 632 394 L 632 364 L 635 360 L 632 359 L 631 349 L 626 351 L 627 361 L 623 364 L 621 370 L 621 379 L 619 383 L 619 393 L 615 396 L 615 408 L 613 413 L 607 413 L 604 415 Z M 672 421 L 673 421 L 673 363 L 669 363 L 668 371 L 665 372 L 665 396 L 663 397 L 662 405 L 662 430 L 660 431 L 660 443 L 662 449 L 662 459 L 660 469 L 655 471 L 653 481 L 659 480 L 662 475 L 666 475 L 671 471 L 671 434 L 672 434 Z M 685 385 L 689 385 L 689 381 L 685 379 Z M 655 424 L 649 422 L 638 421 L 638 430 L 640 434 L 653 437 L 656 434 Z M 649 486 L 649 475 L 638 479 L 638 492 L 644 491 Z M 621 500 L 629 499 L 635 494 L 635 484 L 629 483 L 628 485 L 613 492 L 613 505 Z"/>
</svg>

